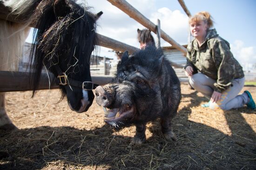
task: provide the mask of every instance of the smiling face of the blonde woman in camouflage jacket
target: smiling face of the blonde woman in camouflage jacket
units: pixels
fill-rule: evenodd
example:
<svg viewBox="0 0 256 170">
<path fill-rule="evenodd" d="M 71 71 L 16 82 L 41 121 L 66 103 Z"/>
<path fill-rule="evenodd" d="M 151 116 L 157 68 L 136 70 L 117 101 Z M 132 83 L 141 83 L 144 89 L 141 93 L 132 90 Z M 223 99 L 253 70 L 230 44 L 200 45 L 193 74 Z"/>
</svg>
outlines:
<svg viewBox="0 0 256 170">
<path fill-rule="evenodd" d="M 196 39 L 204 39 L 207 33 L 207 23 L 203 20 L 191 23 L 190 32 Z"/>
</svg>

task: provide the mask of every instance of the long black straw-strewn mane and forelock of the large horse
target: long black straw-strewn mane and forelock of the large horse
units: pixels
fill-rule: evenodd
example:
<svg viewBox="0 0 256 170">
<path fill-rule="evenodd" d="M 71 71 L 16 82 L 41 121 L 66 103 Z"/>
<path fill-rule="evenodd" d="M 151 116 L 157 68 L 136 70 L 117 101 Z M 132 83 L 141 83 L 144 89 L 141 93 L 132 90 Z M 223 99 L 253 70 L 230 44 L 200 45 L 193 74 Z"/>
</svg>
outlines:
<svg viewBox="0 0 256 170">
<path fill-rule="evenodd" d="M 66 2 L 68 10 L 58 18 L 54 14 L 53 0 L 41 1 L 34 11 L 37 30 L 34 30 L 35 43 L 30 54 L 33 96 L 39 85 L 42 68 L 51 70 L 64 55 L 68 56 L 65 62 L 69 65 L 74 65 L 76 56 L 80 75 L 86 68 L 84 63 L 90 64 L 90 49 L 97 42 L 96 17 L 75 1 Z"/>
</svg>

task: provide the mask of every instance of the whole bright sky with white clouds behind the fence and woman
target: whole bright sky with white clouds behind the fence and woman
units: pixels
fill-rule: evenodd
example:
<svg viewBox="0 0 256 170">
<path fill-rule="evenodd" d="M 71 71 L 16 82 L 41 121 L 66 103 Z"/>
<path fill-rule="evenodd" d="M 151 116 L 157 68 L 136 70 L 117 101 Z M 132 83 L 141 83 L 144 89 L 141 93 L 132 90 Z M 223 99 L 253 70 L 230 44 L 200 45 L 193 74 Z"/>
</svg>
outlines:
<svg viewBox="0 0 256 170">
<path fill-rule="evenodd" d="M 83 1 L 83 0 L 80 0 Z M 188 43 L 188 17 L 178 0 L 127 0 L 153 23 L 161 20 L 161 28 L 181 45 Z M 208 11 L 219 35 L 229 41 L 231 51 L 243 66 L 256 64 L 256 0 L 184 0 L 190 13 Z M 144 26 L 131 19 L 107 0 L 86 0 L 91 11 L 103 12 L 97 32 L 131 46 L 139 47 L 137 28 Z M 155 36 L 155 35 L 154 35 Z M 161 40 L 162 46 L 171 46 Z M 100 47 L 97 54 L 114 57 L 110 49 Z"/>
</svg>

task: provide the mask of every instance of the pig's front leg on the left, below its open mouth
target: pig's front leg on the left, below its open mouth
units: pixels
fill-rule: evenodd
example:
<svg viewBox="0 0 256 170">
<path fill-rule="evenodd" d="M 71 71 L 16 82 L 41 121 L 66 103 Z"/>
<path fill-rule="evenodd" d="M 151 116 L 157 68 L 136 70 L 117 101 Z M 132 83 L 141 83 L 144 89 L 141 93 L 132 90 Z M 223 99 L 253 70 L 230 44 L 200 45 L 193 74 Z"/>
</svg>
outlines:
<svg viewBox="0 0 256 170">
<path fill-rule="evenodd" d="M 132 145 L 139 146 L 146 140 L 146 124 L 135 124 L 136 125 L 136 133 L 134 138 L 132 138 L 131 143 Z"/>
</svg>

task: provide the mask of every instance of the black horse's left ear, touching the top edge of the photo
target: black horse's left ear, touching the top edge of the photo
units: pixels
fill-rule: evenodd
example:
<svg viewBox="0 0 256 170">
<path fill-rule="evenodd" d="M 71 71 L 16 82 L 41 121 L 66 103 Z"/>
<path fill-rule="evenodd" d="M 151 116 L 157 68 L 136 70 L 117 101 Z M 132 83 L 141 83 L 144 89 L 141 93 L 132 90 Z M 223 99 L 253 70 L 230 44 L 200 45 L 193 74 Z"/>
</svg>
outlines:
<svg viewBox="0 0 256 170">
<path fill-rule="evenodd" d="M 54 14 L 56 18 L 65 17 L 69 12 L 66 0 L 54 0 Z"/>
</svg>

